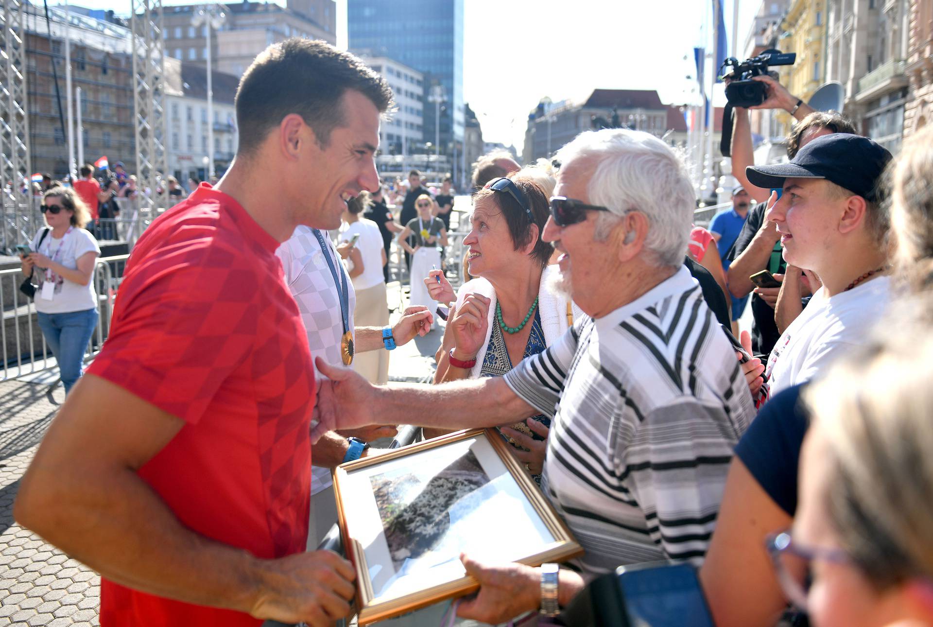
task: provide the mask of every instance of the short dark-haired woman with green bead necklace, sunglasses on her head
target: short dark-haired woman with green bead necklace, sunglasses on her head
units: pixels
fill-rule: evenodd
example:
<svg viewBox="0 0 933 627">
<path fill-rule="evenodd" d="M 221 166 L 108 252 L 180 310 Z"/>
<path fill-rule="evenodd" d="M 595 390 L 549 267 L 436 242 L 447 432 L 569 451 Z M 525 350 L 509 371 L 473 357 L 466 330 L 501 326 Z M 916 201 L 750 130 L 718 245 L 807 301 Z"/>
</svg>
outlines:
<svg viewBox="0 0 933 627">
<path fill-rule="evenodd" d="M 559 272 L 548 266 L 553 246 L 541 239 L 549 215 L 544 190 L 522 171 L 494 179 L 475 194 L 464 246 L 469 273 L 478 278 L 456 296 L 435 383 L 505 374 L 557 341 L 582 315 L 550 288 Z M 433 298 L 453 300 L 441 272 L 431 272 L 425 286 Z M 549 428 L 550 420 L 539 415 L 500 429 L 536 479 Z M 425 430 L 432 437 L 440 433 Z"/>
</svg>

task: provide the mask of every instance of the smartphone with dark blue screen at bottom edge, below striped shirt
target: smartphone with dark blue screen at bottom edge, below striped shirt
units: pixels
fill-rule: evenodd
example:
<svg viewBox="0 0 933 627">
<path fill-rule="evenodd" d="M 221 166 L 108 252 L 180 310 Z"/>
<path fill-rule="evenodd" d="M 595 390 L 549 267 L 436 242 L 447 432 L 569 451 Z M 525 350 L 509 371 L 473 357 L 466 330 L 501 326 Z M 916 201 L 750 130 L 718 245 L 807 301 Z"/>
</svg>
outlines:
<svg viewBox="0 0 933 627">
<path fill-rule="evenodd" d="M 696 569 L 689 564 L 634 564 L 616 569 L 626 624 L 714 627 Z"/>
</svg>

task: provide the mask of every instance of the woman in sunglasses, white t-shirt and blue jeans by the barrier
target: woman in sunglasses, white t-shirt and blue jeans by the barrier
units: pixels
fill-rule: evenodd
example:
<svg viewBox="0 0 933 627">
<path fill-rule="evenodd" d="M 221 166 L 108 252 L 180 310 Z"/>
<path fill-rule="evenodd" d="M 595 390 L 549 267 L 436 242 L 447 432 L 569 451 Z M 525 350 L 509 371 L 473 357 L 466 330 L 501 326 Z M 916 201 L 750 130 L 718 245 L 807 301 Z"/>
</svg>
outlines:
<svg viewBox="0 0 933 627">
<path fill-rule="evenodd" d="M 37 283 L 39 328 L 62 371 L 65 394 L 81 376 L 81 362 L 97 326 L 94 264 L 101 254 L 84 226 L 91 212 L 73 188 L 50 188 L 42 199 L 45 229 L 35 234 L 22 273 Z M 36 281 L 37 279 L 37 281 Z"/>
</svg>

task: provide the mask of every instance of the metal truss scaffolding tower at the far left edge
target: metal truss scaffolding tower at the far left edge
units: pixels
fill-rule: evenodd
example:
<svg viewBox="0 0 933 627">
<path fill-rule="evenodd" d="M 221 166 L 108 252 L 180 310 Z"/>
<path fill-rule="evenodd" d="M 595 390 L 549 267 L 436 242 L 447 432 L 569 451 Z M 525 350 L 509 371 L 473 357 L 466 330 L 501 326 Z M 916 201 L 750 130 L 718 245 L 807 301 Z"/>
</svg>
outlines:
<svg viewBox="0 0 933 627">
<path fill-rule="evenodd" d="M 29 179 L 29 116 L 26 108 L 26 0 L 3 0 L 0 36 L 0 189 L 3 204 L 26 210 Z"/>
</svg>

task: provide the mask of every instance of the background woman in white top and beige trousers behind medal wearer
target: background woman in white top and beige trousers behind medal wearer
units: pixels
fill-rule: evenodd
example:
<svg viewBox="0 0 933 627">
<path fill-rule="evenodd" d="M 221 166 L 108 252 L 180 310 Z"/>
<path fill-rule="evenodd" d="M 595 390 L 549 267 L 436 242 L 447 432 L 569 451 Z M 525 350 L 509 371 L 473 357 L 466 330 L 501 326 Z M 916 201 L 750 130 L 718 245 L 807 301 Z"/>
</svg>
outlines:
<svg viewBox="0 0 933 627">
<path fill-rule="evenodd" d="M 347 251 L 347 272 L 356 292 L 355 325 L 385 327 L 389 324 L 389 304 L 383 276 L 386 262 L 383 235 L 375 222 L 360 216 L 369 203 L 367 192 L 347 202 L 342 216 L 341 245 L 337 250 L 341 256 L 343 251 Z M 354 238 L 355 244 L 351 245 Z M 388 383 L 389 352 L 358 353 L 353 360 L 353 369 L 370 383 Z"/>
</svg>

